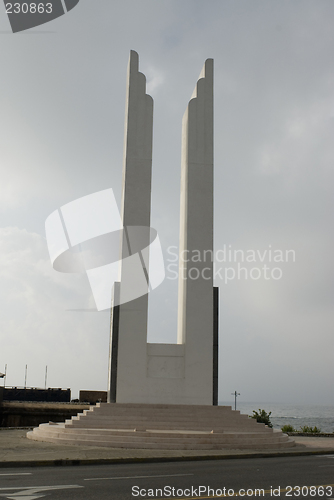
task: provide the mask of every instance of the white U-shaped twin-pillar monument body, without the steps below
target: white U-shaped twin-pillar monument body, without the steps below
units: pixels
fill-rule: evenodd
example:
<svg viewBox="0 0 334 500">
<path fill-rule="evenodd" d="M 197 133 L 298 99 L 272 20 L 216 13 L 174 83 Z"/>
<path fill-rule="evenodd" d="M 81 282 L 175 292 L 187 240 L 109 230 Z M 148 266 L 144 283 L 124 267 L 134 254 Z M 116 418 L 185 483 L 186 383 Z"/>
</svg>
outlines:
<svg viewBox="0 0 334 500">
<path fill-rule="evenodd" d="M 150 243 L 149 231 L 142 232 L 139 239 L 133 238 L 132 243 L 127 228 L 150 227 L 152 123 L 153 100 L 146 94 L 145 76 L 138 70 L 138 54 L 131 51 L 125 112 L 122 265 L 112 310 L 109 402 L 217 404 L 218 325 L 217 321 L 214 324 L 212 270 L 212 59 L 205 62 L 182 124 L 177 344 L 147 343 L 147 294 L 122 301 L 131 279 L 134 281 L 127 257 L 133 253 L 133 245 L 139 251 Z M 186 256 L 193 251 L 199 253 L 201 261 L 187 262 Z M 148 289 L 145 253 L 142 265 L 142 279 L 146 278 Z"/>
</svg>

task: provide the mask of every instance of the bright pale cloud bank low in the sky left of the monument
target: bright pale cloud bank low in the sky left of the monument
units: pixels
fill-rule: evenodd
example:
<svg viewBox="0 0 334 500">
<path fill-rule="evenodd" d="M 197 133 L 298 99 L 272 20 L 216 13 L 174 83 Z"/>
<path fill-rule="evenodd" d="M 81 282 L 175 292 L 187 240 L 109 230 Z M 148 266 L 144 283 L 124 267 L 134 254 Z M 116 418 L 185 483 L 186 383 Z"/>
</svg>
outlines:
<svg viewBox="0 0 334 500">
<path fill-rule="evenodd" d="M 105 389 L 108 323 L 106 313 L 73 312 L 94 307 L 85 275 L 52 269 L 45 238 L 26 230 L 0 230 L 1 365 L 8 365 L 7 384 L 22 386 L 28 364 L 28 386 L 74 391 Z M 94 374 L 94 383 L 92 383 Z"/>
</svg>

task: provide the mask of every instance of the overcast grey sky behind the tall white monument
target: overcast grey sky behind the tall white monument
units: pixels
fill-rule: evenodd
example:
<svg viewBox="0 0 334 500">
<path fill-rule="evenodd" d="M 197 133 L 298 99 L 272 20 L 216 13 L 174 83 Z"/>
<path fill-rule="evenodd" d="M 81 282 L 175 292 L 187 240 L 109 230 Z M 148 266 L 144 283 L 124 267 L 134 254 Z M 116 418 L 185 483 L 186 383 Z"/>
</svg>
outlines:
<svg viewBox="0 0 334 500">
<path fill-rule="evenodd" d="M 109 313 L 85 275 L 52 269 L 44 223 L 121 195 L 126 68 L 154 98 L 152 226 L 178 246 L 181 120 L 215 61 L 215 249 L 267 250 L 280 279 L 220 287 L 219 399 L 334 405 L 332 0 L 80 0 L 10 33 L 0 6 L 0 371 L 8 385 L 105 390 Z M 270 247 L 271 245 L 271 247 Z M 295 261 L 269 262 L 269 248 Z M 237 263 L 218 263 L 237 270 Z M 229 271 L 230 275 L 232 271 Z M 276 271 L 276 276 L 279 275 Z M 245 274 L 245 272 L 244 272 Z M 221 274 L 222 275 L 222 274 Z M 224 275 L 224 274 L 223 274 Z M 176 341 L 177 281 L 150 295 L 150 341 Z"/>
</svg>

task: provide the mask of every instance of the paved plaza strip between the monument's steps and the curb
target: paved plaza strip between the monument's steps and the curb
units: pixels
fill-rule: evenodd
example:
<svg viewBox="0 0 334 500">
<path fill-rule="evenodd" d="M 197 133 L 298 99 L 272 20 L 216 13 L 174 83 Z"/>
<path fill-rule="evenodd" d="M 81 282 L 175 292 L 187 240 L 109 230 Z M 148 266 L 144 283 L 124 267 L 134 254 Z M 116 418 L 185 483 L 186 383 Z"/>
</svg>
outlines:
<svg viewBox="0 0 334 500">
<path fill-rule="evenodd" d="M 215 460 L 272 456 L 334 454 L 333 437 L 293 436 L 296 446 L 282 450 L 131 450 L 32 441 L 30 429 L 0 429 L 0 467 L 88 465 L 122 462 Z"/>
</svg>

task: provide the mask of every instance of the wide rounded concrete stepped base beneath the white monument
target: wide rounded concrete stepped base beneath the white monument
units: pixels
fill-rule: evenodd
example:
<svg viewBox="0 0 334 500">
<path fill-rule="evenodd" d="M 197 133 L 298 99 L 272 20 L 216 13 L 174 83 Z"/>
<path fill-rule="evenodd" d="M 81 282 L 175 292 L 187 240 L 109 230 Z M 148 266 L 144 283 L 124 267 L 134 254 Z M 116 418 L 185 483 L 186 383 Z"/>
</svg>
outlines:
<svg viewBox="0 0 334 500">
<path fill-rule="evenodd" d="M 41 424 L 29 439 L 127 449 L 282 449 L 295 446 L 280 430 L 229 406 L 98 403 L 65 423 Z"/>
</svg>

